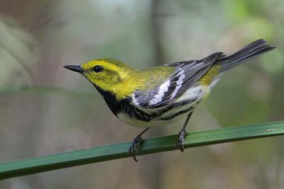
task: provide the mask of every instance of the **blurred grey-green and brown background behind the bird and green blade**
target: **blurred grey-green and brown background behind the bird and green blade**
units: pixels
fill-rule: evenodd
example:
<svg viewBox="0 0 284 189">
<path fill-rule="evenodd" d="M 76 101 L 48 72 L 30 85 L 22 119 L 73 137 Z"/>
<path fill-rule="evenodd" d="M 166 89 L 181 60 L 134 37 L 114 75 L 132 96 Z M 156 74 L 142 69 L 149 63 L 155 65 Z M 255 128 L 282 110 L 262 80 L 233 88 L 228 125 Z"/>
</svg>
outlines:
<svg viewBox="0 0 284 189">
<path fill-rule="evenodd" d="M 284 1 L 0 1 L 0 163 L 131 141 L 84 77 L 111 57 L 142 69 L 264 38 L 277 49 L 229 71 L 187 131 L 284 120 Z M 37 88 L 35 88 L 35 86 Z M 144 138 L 177 134 L 184 120 Z M 168 151 L 0 182 L 0 188 L 284 188 L 283 137 Z"/>
</svg>

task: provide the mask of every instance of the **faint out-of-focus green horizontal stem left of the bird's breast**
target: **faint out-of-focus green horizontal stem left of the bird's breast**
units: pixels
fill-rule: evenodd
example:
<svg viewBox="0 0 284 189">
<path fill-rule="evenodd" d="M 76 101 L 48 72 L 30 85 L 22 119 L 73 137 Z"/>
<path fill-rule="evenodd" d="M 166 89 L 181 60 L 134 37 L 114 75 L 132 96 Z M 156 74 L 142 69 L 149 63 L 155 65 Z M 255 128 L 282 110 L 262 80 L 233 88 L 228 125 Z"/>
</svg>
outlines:
<svg viewBox="0 0 284 189">
<path fill-rule="evenodd" d="M 0 86 L 0 94 L 6 93 L 58 93 L 65 96 L 75 96 L 79 98 L 94 96 L 94 92 L 80 92 L 64 88 L 45 86 Z"/>
</svg>

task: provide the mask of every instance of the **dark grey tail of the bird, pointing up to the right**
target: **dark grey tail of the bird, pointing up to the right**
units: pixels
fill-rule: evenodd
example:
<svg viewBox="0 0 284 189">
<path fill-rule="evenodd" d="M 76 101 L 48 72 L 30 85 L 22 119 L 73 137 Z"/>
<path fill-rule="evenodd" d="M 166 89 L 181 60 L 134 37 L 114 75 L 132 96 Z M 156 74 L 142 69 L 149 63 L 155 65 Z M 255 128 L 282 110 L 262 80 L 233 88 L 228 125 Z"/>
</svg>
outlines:
<svg viewBox="0 0 284 189">
<path fill-rule="evenodd" d="M 222 67 L 219 69 L 219 71 L 223 72 L 231 67 L 239 65 L 241 62 L 258 57 L 259 55 L 262 55 L 263 53 L 269 52 L 273 49 L 275 49 L 275 47 L 266 45 L 266 40 L 256 40 L 238 52 L 235 52 L 233 55 L 229 55 L 228 57 L 226 55 L 223 56 L 222 58 L 218 59 L 214 65 L 221 65 Z"/>
</svg>

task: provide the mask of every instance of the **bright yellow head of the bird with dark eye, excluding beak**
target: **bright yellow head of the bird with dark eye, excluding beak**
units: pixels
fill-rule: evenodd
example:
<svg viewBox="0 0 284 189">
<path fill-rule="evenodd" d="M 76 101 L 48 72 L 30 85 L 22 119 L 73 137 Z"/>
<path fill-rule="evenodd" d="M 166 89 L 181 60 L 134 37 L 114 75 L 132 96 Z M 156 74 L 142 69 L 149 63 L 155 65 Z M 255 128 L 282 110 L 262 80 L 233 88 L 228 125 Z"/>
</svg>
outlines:
<svg viewBox="0 0 284 189">
<path fill-rule="evenodd" d="M 125 98 L 136 87 L 132 80 L 136 70 L 116 59 L 94 59 L 82 64 L 82 74 L 104 91 L 113 93 L 117 100 Z"/>
</svg>

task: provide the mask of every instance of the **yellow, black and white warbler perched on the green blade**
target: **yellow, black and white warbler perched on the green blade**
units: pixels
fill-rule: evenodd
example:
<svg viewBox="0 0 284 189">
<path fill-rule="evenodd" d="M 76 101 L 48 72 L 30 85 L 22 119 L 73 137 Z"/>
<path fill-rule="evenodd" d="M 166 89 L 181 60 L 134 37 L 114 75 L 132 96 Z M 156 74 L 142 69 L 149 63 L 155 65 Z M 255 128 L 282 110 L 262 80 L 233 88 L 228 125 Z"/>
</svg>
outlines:
<svg viewBox="0 0 284 189">
<path fill-rule="evenodd" d="M 174 144 L 183 151 L 187 122 L 219 79 L 232 67 L 274 48 L 260 39 L 229 56 L 216 52 L 203 59 L 141 70 L 111 58 L 64 67 L 86 77 L 117 118 L 132 126 L 146 127 L 134 137 L 129 149 L 129 154 L 137 161 L 137 144 L 144 132 L 150 127 L 168 125 L 187 116 Z"/>
</svg>

